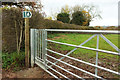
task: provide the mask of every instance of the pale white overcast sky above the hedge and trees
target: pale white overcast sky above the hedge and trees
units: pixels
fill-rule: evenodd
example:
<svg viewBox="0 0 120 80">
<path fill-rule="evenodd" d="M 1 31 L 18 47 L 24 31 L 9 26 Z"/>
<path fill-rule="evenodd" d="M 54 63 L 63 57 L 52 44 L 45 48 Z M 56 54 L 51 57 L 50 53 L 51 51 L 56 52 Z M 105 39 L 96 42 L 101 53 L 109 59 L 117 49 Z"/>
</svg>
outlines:
<svg viewBox="0 0 120 80">
<path fill-rule="evenodd" d="M 118 25 L 118 2 L 119 0 L 41 0 L 43 11 L 47 16 L 60 11 L 60 9 L 68 5 L 95 5 L 101 11 L 102 19 L 95 19 L 90 26 L 117 26 Z"/>
</svg>

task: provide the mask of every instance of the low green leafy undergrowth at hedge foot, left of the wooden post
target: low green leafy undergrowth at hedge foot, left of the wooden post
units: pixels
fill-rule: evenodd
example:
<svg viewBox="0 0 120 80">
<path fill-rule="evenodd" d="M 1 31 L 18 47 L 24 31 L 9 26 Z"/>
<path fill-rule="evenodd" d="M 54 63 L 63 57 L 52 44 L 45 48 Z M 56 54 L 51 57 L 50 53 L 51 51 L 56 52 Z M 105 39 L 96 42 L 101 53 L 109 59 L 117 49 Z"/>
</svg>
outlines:
<svg viewBox="0 0 120 80">
<path fill-rule="evenodd" d="M 2 54 L 2 68 L 3 69 L 16 69 L 19 67 L 23 67 L 25 64 L 25 53 L 21 52 L 20 54 L 17 54 L 17 52 L 14 53 L 4 53 Z"/>
</svg>

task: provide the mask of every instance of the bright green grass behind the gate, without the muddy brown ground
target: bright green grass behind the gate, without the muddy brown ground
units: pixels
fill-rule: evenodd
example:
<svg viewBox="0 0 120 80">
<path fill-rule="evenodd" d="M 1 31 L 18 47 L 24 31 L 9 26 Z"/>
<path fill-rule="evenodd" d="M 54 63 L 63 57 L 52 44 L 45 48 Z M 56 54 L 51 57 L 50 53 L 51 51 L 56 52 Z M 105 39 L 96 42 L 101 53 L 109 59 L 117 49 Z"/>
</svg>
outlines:
<svg viewBox="0 0 120 80">
<path fill-rule="evenodd" d="M 82 42 L 87 40 L 92 35 L 93 34 L 56 33 L 56 34 L 49 34 L 48 39 L 53 39 L 54 41 L 59 41 L 59 42 L 63 42 L 63 43 L 80 45 Z M 116 46 L 118 46 L 118 35 L 116 35 L 116 34 L 107 34 L 107 35 L 104 35 L 104 36 L 107 37 Z M 93 39 L 88 41 L 83 46 L 96 48 L 96 43 L 97 43 L 97 37 L 94 37 Z M 56 50 L 70 51 L 70 50 L 74 49 L 74 47 L 65 46 L 65 45 L 59 45 L 59 44 L 55 44 L 55 46 L 54 46 L 54 49 L 56 49 Z M 101 37 L 100 37 L 100 40 L 99 40 L 99 49 L 116 52 L 116 50 L 114 48 L 112 48 Z M 93 58 L 93 57 L 96 56 L 96 52 L 92 51 L 92 50 L 79 48 L 76 51 L 74 51 L 71 55 L 74 56 L 74 57 L 83 57 L 84 58 L 85 56 L 87 56 L 88 58 Z M 110 59 L 110 58 L 118 58 L 118 56 L 99 52 L 99 58 L 108 58 L 108 59 Z"/>
</svg>

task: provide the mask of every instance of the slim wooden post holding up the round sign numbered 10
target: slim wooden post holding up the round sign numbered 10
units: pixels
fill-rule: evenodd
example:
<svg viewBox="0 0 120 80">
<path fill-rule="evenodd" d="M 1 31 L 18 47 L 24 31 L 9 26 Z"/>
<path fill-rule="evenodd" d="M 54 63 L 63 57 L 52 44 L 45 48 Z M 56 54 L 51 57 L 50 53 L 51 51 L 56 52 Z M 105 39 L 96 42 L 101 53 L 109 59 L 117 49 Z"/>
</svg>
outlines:
<svg viewBox="0 0 120 80">
<path fill-rule="evenodd" d="M 25 18 L 25 65 L 29 67 L 29 18 Z"/>
</svg>

